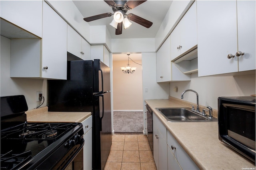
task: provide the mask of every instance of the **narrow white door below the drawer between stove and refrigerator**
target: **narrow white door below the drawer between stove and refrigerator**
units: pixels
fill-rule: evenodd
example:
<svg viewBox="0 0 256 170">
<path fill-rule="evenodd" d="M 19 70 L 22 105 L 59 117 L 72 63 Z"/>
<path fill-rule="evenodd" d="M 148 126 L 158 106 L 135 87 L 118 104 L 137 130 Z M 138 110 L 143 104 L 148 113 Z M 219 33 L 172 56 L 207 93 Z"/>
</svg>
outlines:
<svg viewBox="0 0 256 170">
<path fill-rule="evenodd" d="M 84 135 L 83 162 L 84 170 L 92 169 L 92 128 Z"/>
</svg>

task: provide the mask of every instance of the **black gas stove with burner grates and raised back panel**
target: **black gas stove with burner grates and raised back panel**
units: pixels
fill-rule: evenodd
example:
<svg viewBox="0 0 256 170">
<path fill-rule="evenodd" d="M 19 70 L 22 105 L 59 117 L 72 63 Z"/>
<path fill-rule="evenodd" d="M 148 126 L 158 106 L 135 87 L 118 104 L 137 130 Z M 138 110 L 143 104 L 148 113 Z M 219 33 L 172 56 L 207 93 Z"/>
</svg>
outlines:
<svg viewBox="0 0 256 170">
<path fill-rule="evenodd" d="M 1 97 L 1 170 L 66 169 L 84 145 L 81 123 L 26 121 L 25 97 Z"/>
</svg>

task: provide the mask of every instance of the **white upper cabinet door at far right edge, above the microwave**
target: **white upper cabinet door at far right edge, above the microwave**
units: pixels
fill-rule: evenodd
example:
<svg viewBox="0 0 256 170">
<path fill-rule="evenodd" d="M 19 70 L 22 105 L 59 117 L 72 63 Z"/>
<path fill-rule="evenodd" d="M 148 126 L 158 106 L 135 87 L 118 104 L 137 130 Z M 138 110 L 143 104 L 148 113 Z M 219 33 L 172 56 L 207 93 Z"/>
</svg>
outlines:
<svg viewBox="0 0 256 170">
<path fill-rule="evenodd" d="M 238 51 L 244 52 L 238 71 L 255 69 L 255 16 L 255 1 L 237 1 Z"/>
</svg>

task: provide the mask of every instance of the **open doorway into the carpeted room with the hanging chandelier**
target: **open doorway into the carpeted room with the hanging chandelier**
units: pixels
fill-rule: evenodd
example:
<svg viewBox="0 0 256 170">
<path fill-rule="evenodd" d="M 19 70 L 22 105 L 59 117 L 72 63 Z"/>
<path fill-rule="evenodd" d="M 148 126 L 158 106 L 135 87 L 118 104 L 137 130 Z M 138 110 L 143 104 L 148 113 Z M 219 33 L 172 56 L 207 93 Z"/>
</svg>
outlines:
<svg viewBox="0 0 256 170">
<path fill-rule="evenodd" d="M 136 67 L 124 73 L 120 67 Z M 114 133 L 143 133 L 143 93 L 141 54 L 113 54 Z"/>
</svg>

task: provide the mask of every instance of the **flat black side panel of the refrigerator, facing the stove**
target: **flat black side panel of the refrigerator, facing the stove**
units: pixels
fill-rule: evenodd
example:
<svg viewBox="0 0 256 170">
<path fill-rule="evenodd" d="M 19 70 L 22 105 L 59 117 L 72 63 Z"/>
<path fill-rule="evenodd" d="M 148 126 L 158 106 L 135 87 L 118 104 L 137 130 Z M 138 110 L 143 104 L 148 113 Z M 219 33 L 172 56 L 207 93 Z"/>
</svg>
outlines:
<svg viewBox="0 0 256 170">
<path fill-rule="evenodd" d="M 93 61 L 68 61 L 67 80 L 48 80 L 49 111 L 93 112 Z"/>
</svg>

